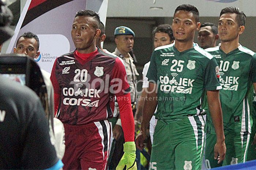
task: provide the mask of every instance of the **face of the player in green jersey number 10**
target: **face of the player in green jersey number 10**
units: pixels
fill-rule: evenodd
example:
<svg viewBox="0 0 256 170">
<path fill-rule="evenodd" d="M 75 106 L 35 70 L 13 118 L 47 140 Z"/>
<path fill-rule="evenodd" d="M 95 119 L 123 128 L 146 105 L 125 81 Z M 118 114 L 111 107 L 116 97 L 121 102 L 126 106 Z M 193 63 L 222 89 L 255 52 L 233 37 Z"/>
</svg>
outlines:
<svg viewBox="0 0 256 170">
<path fill-rule="evenodd" d="M 218 23 L 218 34 L 222 42 L 233 41 L 240 34 L 236 15 L 234 13 L 225 13 L 220 16 Z"/>
</svg>

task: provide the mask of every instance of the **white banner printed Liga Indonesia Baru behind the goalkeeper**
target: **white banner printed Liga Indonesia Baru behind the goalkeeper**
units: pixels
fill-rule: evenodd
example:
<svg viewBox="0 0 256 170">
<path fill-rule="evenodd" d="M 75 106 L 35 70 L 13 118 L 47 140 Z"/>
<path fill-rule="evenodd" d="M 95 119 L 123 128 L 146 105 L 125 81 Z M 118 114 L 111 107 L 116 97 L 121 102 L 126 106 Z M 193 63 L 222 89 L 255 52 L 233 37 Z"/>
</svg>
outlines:
<svg viewBox="0 0 256 170">
<path fill-rule="evenodd" d="M 78 10 L 89 9 L 106 21 L 108 0 L 27 0 L 6 53 L 12 53 L 16 41 L 25 32 L 38 35 L 40 56 L 35 61 L 51 72 L 55 59 L 75 50 L 71 27 Z"/>
</svg>

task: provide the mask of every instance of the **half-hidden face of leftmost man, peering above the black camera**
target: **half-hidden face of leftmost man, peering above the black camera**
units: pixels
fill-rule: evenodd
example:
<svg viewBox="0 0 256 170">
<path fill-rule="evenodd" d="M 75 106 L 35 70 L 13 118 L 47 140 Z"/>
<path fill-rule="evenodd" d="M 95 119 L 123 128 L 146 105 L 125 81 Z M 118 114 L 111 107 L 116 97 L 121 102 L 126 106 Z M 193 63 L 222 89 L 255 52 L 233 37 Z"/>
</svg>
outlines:
<svg viewBox="0 0 256 170">
<path fill-rule="evenodd" d="M 38 51 L 38 44 L 35 38 L 20 37 L 17 42 L 17 47 L 14 48 L 16 54 L 26 54 L 31 58 L 38 58 L 40 52 Z"/>
</svg>

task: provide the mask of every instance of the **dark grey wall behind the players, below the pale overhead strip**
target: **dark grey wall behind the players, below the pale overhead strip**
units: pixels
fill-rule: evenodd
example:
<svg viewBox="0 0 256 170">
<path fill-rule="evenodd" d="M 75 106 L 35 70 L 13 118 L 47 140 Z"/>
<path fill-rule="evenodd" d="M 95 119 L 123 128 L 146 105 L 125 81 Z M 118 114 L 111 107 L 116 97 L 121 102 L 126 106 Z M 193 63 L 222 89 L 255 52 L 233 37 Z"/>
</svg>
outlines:
<svg viewBox="0 0 256 170">
<path fill-rule="evenodd" d="M 200 22 L 218 23 L 218 17 L 201 17 Z M 134 52 L 138 59 L 138 65 L 143 66 L 149 61 L 153 51 L 152 30 L 155 26 L 167 23 L 172 23 L 172 18 L 107 18 L 106 20 L 106 35 L 104 48 L 110 52 L 114 51 L 114 29 L 117 26 L 130 27 L 135 32 Z M 247 48 L 256 51 L 256 17 L 247 17 L 245 31 L 240 37 L 240 44 Z M 197 42 L 197 33 L 195 35 Z"/>
</svg>

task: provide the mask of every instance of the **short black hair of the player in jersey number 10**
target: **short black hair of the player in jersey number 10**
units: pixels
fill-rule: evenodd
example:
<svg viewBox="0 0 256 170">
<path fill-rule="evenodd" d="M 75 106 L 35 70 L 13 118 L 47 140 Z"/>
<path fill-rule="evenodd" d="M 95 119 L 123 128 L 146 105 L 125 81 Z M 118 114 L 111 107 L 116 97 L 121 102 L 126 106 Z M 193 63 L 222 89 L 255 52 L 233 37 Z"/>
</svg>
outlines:
<svg viewBox="0 0 256 170">
<path fill-rule="evenodd" d="M 221 14 L 219 15 L 219 17 L 221 17 L 221 15 L 226 14 L 226 13 L 235 13 L 235 14 L 237 14 L 236 20 L 238 22 L 238 26 L 244 26 L 245 25 L 246 15 L 244 14 L 244 11 L 241 11 L 237 7 L 226 7 L 226 8 L 223 8 L 221 10 Z"/>
</svg>

